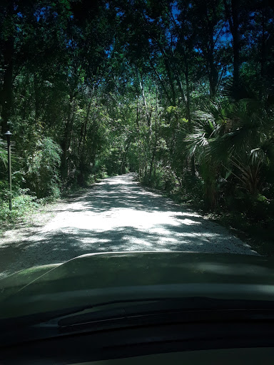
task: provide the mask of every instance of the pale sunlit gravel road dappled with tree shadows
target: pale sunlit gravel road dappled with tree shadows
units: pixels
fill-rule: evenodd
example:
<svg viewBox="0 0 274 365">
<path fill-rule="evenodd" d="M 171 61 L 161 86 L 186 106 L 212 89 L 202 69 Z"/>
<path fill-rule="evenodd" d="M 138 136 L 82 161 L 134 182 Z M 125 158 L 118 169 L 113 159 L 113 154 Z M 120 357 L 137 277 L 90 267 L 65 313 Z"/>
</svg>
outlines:
<svg viewBox="0 0 274 365">
<path fill-rule="evenodd" d="M 33 215 L 29 225 L 4 232 L 0 277 L 91 252 L 153 250 L 258 255 L 225 227 L 126 174 L 70 195 Z"/>
</svg>

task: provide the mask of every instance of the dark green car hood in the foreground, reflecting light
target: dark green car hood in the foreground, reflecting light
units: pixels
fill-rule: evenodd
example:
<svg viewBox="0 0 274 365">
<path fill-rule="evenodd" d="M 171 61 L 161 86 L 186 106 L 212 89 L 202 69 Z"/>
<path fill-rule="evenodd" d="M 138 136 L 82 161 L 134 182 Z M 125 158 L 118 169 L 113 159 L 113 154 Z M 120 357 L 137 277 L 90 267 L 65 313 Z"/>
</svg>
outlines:
<svg viewBox="0 0 274 365">
<path fill-rule="evenodd" d="M 0 319 L 118 300 L 274 300 L 273 259 L 191 252 L 107 252 L 1 279 Z"/>
</svg>

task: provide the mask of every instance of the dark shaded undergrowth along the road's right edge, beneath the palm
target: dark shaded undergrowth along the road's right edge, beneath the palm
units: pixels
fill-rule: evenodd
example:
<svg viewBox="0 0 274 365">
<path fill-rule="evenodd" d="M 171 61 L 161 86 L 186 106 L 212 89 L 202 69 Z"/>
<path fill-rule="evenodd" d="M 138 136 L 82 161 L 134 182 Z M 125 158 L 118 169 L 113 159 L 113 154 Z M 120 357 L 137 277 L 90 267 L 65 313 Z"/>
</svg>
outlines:
<svg viewBox="0 0 274 365">
<path fill-rule="evenodd" d="M 227 227 L 233 235 L 248 242 L 260 255 L 274 255 L 273 201 L 265 202 L 248 195 L 240 197 L 232 195 L 230 199 L 223 199 L 220 194 L 218 205 L 210 209 L 204 199 L 203 181 L 197 181 L 199 179 L 193 178 L 190 174 L 182 184 L 183 187 L 171 176 L 168 182 L 164 179 L 150 183 L 142 178 L 140 180 L 143 185 L 156 188 L 182 208 L 191 208 L 206 219 Z"/>
</svg>

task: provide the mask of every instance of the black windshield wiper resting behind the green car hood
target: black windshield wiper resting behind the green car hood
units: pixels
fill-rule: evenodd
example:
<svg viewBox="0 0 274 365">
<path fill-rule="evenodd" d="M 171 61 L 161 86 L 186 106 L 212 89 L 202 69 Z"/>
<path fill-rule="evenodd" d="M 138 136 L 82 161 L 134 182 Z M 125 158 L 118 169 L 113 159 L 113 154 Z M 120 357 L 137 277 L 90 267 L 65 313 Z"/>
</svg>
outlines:
<svg viewBox="0 0 274 365">
<path fill-rule="evenodd" d="M 136 301 L 133 301 L 136 302 Z M 128 321 L 128 319 L 138 319 L 144 323 L 145 319 L 151 321 L 153 317 L 163 316 L 163 319 L 179 319 L 181 322 L 213 322 L 231 319 L 274 319 L 274 307 L 270 302 L 250 302 L 210 299 L 205 297 L 194 297 L 186 299 L 150 299 L 140 301 L 136 305 L 121 305 L 118 308 L 103 309 L 97 312 L 86 312 L 83 314 L 73 314 L 62 317 L 57 324 L 63 331 L 78 331 L 97 324 L 112 325 L 114 322 Z M 116 302 L 117 303 L 117 302 Z M 115 303 L 115 304 L 116 304 Z M 118 302 L 128 304 L 129 302 Z M 132 302 L 131 302 L 132 303 Z M 112 303 L 107 303 L 114 304 Z M 101 304 L 98 307 L 105 306 Z M 146 322 L 146 321 L 145 321 Z"/>
</svg>

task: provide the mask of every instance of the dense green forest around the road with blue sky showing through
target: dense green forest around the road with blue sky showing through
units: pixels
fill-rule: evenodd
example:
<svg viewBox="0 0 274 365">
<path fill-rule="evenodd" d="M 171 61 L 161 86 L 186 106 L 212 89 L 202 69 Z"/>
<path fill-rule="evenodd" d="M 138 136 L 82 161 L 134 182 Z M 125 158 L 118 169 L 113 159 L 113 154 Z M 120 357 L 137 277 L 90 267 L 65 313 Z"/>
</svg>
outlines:
<svg viewBox="0 0 274 365">
<path fill-rule="evenodd" d="M 272 222 L 273 54 L 267 0 L 6 1 L 0 126 L 13 133 L 14 194 L 132 171 Z M 0 189 L 3 200 L 3 140 Z"/>
</svg>

